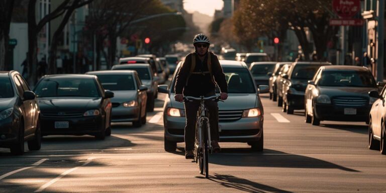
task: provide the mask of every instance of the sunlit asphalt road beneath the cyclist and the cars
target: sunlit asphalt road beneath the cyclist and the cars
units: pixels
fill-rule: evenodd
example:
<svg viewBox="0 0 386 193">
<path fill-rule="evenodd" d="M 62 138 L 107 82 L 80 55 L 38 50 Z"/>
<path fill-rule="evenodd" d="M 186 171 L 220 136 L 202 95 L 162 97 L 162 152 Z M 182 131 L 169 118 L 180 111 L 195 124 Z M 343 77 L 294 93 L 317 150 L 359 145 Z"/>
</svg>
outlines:
<svg viewBox="0 0 386 193">
<path fill-rule="evenodd" d="M 220 143 L 210 179 L 178 151 L 163 150 L 162 105 L 141 128 L 114 124 L 104 141 L 47 136 L 42 149 L 11 156 L 0 149 L 0 192 L 386 192 L 386 156 L 367 149 L 365 123 L 304 122 L 262 95 L 264 151 Z M 26 148 L 27 149 L 27 148 Z"/>
</svg>

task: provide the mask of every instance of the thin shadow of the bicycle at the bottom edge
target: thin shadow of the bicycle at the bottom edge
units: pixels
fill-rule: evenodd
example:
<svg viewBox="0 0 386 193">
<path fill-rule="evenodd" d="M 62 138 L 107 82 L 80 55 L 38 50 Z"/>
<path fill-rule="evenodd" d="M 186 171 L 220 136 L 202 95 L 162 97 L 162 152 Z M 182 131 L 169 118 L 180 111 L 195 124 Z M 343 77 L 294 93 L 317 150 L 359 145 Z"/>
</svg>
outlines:
<svg viewBox="0 0 386 193">
<path fill-rule="evenodd" d="M 239 178 L 234 175 L 221 175 L 215 173 L 214 176 L 210 176 L 209 178 L 212 181 L 215 181 L 225 187 L 234 188 L 239 191 L 246 192 L 283 192 L 283 193 L 291 193 L 291 191 L 286 191 L 283 189 L 278 189 L 272 186 L 264 185 L 261 183 L 256 183 L 254 181 Z"/>
</svg>

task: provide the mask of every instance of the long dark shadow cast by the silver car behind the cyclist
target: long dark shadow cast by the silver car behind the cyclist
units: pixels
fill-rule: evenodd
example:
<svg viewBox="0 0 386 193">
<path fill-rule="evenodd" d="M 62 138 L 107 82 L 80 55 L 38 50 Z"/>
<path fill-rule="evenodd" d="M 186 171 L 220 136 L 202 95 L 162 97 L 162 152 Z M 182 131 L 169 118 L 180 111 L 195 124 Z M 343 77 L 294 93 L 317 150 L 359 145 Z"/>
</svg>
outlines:
<svg viewBox="0 0 386 193">
<path fill-rule="evenodd" d="M 359 172 L 355 169 L 303 155 L 269 149 L 264 149 L 264 153 L 252 153 L 250 151 L 247 153 L 247 150 L 245 148 L 222 149 L 221 153 L 212 154 L 209 157 L 209 162 L 218 165 L 244 167 L 322 168 Z"/>
</svg>

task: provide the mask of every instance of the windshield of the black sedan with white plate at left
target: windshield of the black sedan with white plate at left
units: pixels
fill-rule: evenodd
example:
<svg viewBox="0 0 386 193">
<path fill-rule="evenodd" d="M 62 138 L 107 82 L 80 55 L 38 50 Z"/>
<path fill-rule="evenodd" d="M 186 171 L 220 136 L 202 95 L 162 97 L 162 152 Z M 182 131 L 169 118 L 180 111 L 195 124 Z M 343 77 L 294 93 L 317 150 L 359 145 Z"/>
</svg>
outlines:
<svg viewBox="0 0 386 193">
<path fill-rule="evenodd" d="M 38 97 L 100 97 L 96 82 L 91 78 L 44 78 L 34 91 Z"/>
</svg>

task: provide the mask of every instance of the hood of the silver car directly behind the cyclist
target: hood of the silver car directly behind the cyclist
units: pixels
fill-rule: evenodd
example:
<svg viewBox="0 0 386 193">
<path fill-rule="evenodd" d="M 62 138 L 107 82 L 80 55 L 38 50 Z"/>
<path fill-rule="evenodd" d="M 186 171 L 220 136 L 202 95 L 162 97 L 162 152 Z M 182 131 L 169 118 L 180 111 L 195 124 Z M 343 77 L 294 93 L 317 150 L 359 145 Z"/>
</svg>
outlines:
<svg viewBox="0 0 386 193">
<path fill-rule="evenodd" d="M 218 102 L 219 110 L 244 110 L 244 109 L 252 109 L 256 105 L 257 95 L 255 93 L 251 94 L 236 94 L 229 93 L 228 99 L 223 102 Z M 170 96 L 171 107 L 177 109 L 183 109 L 183 103 L 179 103 L 174 101 L 174 94 Z"/>
</svg>

